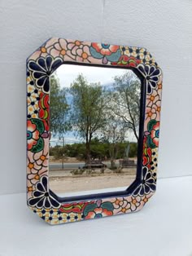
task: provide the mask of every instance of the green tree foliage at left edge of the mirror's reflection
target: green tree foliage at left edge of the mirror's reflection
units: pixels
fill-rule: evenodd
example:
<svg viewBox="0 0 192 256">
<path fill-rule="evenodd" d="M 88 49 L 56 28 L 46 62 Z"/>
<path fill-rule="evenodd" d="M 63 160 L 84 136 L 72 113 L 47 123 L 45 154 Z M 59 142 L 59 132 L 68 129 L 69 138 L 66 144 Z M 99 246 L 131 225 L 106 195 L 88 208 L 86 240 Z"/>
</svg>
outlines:
<svg viewBox="0 0 192 256">
<path fill-rule="evenodd" d="M 68 104 L 64 89 L 60 88 L 59 78 L 56 75 L 50 77 L 50 131 L 53 135 L 62 135 L 68 128 L 66 114 Z"/>
</svg>

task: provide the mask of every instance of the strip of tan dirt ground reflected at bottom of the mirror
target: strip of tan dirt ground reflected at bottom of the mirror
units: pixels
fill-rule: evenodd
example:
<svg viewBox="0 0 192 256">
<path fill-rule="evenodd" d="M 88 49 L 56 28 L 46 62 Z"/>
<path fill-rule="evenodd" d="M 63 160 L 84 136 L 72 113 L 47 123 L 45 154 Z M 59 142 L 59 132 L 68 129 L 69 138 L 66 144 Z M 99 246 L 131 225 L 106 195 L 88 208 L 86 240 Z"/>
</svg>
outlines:
<svg viewBox="0 0 192 256">
<path fill-rule="evenodd" d="M 102 188 L 129 187 L 135 179 L 136 170 L 123 174 L 63 175 L 50 172 L 50 189 L 55 193 L 81 192 Z"/>
</svg>

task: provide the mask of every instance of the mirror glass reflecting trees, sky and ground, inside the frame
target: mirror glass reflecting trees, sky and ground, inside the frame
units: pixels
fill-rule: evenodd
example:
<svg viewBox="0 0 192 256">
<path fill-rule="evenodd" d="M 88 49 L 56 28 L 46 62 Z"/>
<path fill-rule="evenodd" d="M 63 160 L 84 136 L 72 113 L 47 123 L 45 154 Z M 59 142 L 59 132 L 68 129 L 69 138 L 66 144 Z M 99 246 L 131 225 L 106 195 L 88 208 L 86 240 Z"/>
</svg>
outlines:
<svg viewBox="0 0 192 256">
<path fill-rule="evenodd" d="M 63 64 L 50 77 L 50 189 L 124 191 L 136 178 L 141 81 L 130 69 Z"/>
</svg>

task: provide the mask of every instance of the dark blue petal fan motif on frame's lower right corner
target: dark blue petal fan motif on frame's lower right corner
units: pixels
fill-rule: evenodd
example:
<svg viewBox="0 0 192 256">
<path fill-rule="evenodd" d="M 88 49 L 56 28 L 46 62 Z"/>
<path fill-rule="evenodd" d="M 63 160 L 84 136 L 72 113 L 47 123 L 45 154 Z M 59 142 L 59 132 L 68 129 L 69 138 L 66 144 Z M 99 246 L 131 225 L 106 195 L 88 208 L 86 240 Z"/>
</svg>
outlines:
<svg viewBox="0 0 192 256">
<path fill-rule="evenodd" d="M 155 192 L 156 183 L 151 170 L 148 170 L 146 166 L 142 169 L 143 179 L 142 183 L 133 191 L 133 196 L 143 196 L 150 192 Z"/>
</svg>

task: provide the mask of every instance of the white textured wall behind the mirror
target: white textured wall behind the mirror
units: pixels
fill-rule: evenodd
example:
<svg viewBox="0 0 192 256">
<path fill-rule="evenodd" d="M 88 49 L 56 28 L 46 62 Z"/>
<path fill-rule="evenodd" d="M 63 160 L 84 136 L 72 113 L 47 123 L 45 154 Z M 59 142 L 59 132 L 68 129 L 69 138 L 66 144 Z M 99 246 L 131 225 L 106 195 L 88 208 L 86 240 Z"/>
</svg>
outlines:
<svg viewBox="0 0 192 256">
<path fill-rule="evenodd" d="M 164 72 L 159 177 L 192 174 L 190 0 L 1 0 L 0 193 L 25 191 L 25 60 L 50 37 L 151 51 Z"/>
</svg>

